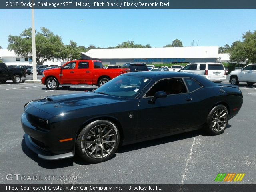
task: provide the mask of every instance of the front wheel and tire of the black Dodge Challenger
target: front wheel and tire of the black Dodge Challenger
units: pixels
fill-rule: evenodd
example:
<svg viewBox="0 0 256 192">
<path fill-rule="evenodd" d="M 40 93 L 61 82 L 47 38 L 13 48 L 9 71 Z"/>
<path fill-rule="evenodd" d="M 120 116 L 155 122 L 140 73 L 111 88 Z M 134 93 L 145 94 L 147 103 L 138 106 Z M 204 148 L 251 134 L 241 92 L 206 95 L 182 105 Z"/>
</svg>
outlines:
<svg viewBox="0 0 256 192">
<path fill-rule="evenodd" d="M 90 163 L 109 160 L 120 142 L 117 126 L 107 120 L 96 120 L 86 125 L 76 139 L 78 155 Z"/>
</svg>

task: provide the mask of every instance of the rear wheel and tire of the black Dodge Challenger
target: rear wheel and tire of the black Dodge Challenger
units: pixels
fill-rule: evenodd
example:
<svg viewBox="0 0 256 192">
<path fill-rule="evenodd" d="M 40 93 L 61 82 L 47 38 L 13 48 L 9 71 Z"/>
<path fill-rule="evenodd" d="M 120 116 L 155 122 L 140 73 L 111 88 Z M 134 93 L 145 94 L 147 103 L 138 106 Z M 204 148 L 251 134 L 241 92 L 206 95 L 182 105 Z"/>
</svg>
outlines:
<svg viewBox="0 0 256 192">
<path fill-rule="evenodd" d="M 212 135 L 222 134 L 228 125 L 228 110 L 224 105 L 215 106 L 206 118 L 206 131 Z"/>
</svg>

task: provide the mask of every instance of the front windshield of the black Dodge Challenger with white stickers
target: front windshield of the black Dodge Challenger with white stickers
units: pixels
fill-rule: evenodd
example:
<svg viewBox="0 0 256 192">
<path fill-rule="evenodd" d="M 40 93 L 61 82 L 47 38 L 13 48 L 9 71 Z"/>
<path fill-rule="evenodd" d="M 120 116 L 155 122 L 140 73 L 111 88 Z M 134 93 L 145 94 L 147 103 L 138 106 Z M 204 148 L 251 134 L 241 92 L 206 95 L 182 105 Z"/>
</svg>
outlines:
<svg viewBox="0 0 256 192">
<path fill-rule="evenodd" d="M 95 93 L 135 98 L 150 80 L 148 77 L 121 75 L 100 86 L 95 90 Z"/>
</svg>

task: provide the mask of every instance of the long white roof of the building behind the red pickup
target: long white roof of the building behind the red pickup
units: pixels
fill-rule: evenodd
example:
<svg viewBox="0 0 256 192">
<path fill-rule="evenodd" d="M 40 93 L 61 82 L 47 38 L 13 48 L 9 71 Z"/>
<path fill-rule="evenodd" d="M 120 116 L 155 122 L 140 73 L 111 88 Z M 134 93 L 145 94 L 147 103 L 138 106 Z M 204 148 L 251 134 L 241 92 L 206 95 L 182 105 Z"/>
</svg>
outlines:
<svg viewBox="0 0 256 192">
<path fill-rule="evenodd" d="M 96 59 L 218 58 L 218 46 L 90 49 L 83 55 Z"/>
</svg>

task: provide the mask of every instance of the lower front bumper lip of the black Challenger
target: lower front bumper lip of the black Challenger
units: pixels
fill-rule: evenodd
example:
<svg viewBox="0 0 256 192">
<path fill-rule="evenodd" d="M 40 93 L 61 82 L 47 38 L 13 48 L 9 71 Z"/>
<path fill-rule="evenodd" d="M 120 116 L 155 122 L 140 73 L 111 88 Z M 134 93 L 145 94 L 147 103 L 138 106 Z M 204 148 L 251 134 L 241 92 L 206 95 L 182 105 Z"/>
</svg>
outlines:
<svg viewBox="0 0 256 192">
<path fill-rule="evenodd" d="M 25 142 L 27 147 L 38 154 L 38 157 L 44 160 L 59 160 L 59 159 L 66 159 L 71 158 L 75 155 L 75 148 L 72 152 L 64 153 L 64 154 L 52 154 L 49 151 L 42 150 L 38 145 L 36 145 L 28 134 L 24 135 Z"/>
</svg>

